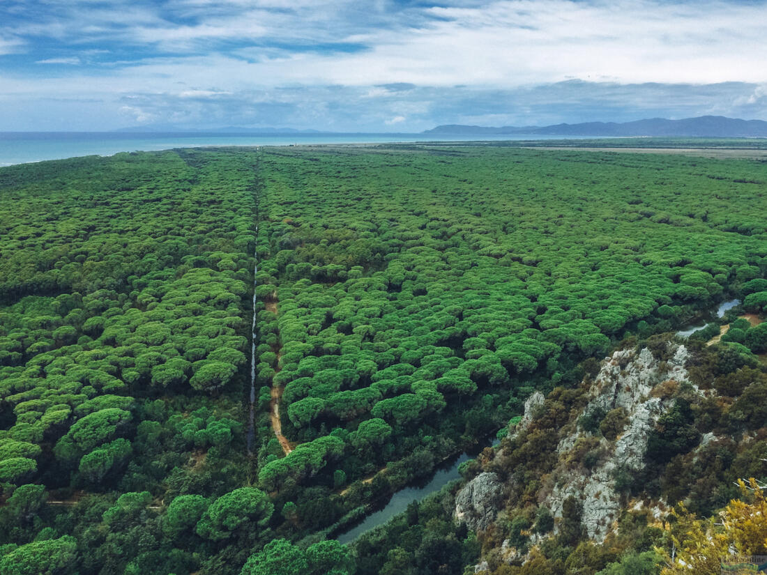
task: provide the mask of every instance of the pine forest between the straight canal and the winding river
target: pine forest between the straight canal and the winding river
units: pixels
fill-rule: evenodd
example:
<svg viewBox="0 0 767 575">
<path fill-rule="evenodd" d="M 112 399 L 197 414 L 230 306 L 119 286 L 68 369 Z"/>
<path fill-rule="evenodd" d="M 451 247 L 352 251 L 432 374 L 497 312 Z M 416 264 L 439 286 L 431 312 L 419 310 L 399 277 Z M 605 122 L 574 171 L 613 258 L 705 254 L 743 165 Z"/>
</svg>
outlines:
<svg viewBox="0 0 767 575">
<path fill-rule="evenodd" d="M 330 490 L 338 468 L 351 482 L 492 432 L 611 340 L 761 281 L 762 186 L 739 183 L 758 164 L 408 151 L 265 155 L 258 377 L 284 387 L 301 445 L 265 446 L 265 489 Z"/>
</svg>

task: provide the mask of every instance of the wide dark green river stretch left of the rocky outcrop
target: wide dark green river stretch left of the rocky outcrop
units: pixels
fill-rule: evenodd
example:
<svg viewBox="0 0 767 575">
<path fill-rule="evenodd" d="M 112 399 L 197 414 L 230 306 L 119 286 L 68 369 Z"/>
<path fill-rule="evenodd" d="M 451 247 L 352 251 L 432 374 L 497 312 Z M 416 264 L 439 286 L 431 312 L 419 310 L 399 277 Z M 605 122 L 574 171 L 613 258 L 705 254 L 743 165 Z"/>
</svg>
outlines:
<svg viewBox="0 0 767 575">
<path fill-rule="evenodd" d="M 499 442 L 499 439 L 494 439 L 491 445 L 498 445 Z M 461 477 L 458 472 L 459 466 L 463 462 L 469 461 L 469 459 L 476 458 L 484 447 L 485 445 L 482 445 L 476 450 L 472 449 L 469 452 L 464 452 L 461 455 L 444 462 L 443 465 L 439 465 L 430 478 L 418 481 L 416 485 L 410 485 L 409 487 L 400 489 L 400 491 L 397 491 L 391 496 L 391 499 L 384 508 L 366 515 L 359 524 L 338 535 L 336 537 L 337 540 L 342 544 L 351 543 L 352 541 L 357 540 L 357 537 L 360 537 L 360 535 L 364 534 L 366 531 L 370 531 L 370 529 L 386 523 L 395 515 L 405 511 L 407 506 L 413 501 L 421 501 L 427 495 L 436 493 L 436 491 L 445 487 L 450 481 L 459 479 Z"/>
</svg>

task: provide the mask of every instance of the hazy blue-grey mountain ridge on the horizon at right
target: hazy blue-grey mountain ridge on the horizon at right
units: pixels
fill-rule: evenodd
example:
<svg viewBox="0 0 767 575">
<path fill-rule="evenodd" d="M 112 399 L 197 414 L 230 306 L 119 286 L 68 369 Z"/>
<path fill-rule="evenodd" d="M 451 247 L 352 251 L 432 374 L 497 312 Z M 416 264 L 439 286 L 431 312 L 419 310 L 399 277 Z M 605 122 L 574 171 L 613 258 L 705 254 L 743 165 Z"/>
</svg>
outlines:
<svg viewBox="0 0 767 575">
<path fill-rule="evenodd" d="M 423 132 L 439 134 L 530 134 L 531 136 L 675 136 L 709 138 L 767 137 L 767 122 L 762 120 L 738 120 L 723 116 L 701 116 L 685 120 L 652 118 L 634 122 L 586 122 L 559 123 L 554 126 L 486 126 L 447 125 L 436 126 Z"/>
</svg>

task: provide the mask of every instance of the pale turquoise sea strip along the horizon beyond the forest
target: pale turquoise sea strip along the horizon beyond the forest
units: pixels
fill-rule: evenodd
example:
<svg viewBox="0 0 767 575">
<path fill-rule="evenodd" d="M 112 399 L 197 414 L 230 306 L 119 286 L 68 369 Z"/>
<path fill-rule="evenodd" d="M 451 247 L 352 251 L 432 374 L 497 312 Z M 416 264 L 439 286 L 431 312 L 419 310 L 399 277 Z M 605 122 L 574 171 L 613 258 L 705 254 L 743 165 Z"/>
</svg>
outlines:
<svg viewBox="0 0 767 575">
<path fill-rule="evenodd" d="M 299 146 L 301 144 L 469 142 L 503 140 L 574 140 L 572 136 L 502 134 L 467 136 L 423 133 L 233 134 L 126 132 L 0 132 L 0 166 L 77 156 L 203 146 Z"/>
</svg>

